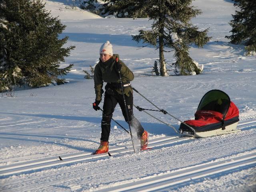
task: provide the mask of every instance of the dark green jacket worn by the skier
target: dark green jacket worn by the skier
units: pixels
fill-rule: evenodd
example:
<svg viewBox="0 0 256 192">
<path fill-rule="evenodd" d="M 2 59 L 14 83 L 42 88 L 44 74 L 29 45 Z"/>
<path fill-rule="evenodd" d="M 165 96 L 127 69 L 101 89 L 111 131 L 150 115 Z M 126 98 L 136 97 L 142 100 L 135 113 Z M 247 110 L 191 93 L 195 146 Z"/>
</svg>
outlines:
<svg viewBox="0 0 256 192">
<path fill-rule="evenodd" d="M 103 82 L 106 83 L 120 83 L 118 72 L 115 68 L 116 58 L 119 59 L 118 54 L 114 54 L 112 58 L 107 60 L 106 62 L 98 62 L 94 68 L 94 89 L 96 94 L 96 100 L 101 100 L 102 94 L 104 93 L 102 86 Z M 132 71 L 121 61 L 118 60 L 122 64 L 122 69 L 120 71 L 122 83 L 127 84 L 134 79 L 134 75 Z M 115 89 L 118 94 L 122 94 L 122 89 Z M 129 96 L 129 94 L 133 93 L 131 86 L 124 87 L 124 94 Z"/>
</svg>

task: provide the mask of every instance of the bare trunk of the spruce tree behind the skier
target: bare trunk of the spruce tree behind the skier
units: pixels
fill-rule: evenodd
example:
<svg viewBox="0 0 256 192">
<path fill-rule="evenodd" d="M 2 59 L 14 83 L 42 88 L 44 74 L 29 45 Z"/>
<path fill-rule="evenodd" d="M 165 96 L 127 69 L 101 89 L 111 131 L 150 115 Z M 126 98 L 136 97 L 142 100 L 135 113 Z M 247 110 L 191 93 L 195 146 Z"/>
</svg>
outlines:
<svg viewBox="0 0 256 192">
<path fill-rule="evenodd" d="M 159 23 L 161 24 L 161 18 L 159 18 Z M 162 23 L 159 30 L 159 62 L 160 62 L 160 75 L 168 76 L 166 72 L 166 65 L 164 62 L 164 24 Z"/>
</svg>

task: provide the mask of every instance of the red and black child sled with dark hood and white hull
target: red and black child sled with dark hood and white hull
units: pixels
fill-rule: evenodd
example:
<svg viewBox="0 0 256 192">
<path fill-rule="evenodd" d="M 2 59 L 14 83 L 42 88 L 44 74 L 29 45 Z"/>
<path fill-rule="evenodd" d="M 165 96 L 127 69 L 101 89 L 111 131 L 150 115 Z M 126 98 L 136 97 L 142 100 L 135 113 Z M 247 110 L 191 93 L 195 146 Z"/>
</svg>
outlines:
<svg viewBox="0 0 256 192">
<path fill-rule="evenodd" d="M 221 90 L 210 90 L 201 99 L 195 120 L 186 120 L 180 124 L 180 134 L 193 137 L 210 137 L 238 132 L 239 111 Z M 193 128 L 194 130 L 192 130 Z"/>
</svg>

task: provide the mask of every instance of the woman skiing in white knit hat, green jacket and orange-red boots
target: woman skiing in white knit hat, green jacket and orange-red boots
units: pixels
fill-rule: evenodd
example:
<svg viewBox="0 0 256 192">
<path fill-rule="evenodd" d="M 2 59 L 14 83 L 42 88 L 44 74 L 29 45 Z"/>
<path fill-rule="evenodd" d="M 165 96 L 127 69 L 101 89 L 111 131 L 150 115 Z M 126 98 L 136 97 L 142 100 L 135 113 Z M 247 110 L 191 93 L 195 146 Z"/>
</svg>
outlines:
<svg viewBox="0 0 256 192">
<path fill-rule="evenodd" d="M 122 87 L 118 74 L 119 71 L 121 74 L 126 106 L 122 95 Z M 128 122 L 129 119 L 130 125 L 135 128 L 137 136 L 140 138 L 140 149 L 144 150 L 148 146 L 148 132 L 144 130 L 133 114 L 133 90 L 130 84 L 133 79 L 134 74 L 132 71 L 119 60 L 118 54 L 113 54 L 112 44 L 110 44 L 109 41 L 102 44 L 100 47 L 100 61 L 94 68 L 94 89 L 96 99 L 92 104 L 92 107 L 96 111 L 100 109 L 99 104 L 102 100 L 102 94 L 104 93 L 102 89 L 103 82 L 106 82 L 107 84 L 105 86 L 102 112 L 100 146 L 94 154 L 108 152 L 110 122 L 117 104 L 120 105 L 125 121 Z M 126 116 L 126 107 L 128 110 L 128 119 Z"/>
</svg>

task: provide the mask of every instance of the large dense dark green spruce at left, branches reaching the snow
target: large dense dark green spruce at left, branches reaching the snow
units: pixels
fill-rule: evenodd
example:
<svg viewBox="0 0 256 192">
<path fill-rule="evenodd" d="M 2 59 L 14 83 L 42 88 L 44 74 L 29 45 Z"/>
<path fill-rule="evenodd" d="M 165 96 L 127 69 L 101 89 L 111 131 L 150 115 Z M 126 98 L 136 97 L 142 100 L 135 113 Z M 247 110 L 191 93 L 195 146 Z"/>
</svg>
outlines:
<svg viewBox="0 0 256 192">
<path fill-rule="evenodd" d="M 0 0 L 0 91 L 66 83 L 72 64 L 59 68 L 60 62 L 75 47 L 62 47 L 65 27 L 40 0 Z"/>
</svg>

